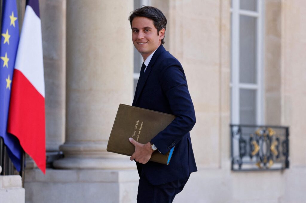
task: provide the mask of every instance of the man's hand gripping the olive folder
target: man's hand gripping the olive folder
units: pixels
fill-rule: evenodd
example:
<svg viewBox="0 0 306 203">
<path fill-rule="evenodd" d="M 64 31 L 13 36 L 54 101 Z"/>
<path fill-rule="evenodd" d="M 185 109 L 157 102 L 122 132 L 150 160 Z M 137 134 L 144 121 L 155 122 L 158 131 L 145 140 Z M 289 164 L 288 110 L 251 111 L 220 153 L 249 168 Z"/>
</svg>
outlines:
<svg viewBox="0 0 306 203">
<path fill-rule="evenodd" d="M 135 152 L 130 157 L 130 160 L 135 160 L 140 164 L 146 164 L 150 158 L 152 153 L 154 152 L 151 149 L 151 144 L 148 142 L 147 144 L 141 144 L 136 142 L 133 138 L 129 138 L 129 141 L 135 146 Z"/>
</svg>

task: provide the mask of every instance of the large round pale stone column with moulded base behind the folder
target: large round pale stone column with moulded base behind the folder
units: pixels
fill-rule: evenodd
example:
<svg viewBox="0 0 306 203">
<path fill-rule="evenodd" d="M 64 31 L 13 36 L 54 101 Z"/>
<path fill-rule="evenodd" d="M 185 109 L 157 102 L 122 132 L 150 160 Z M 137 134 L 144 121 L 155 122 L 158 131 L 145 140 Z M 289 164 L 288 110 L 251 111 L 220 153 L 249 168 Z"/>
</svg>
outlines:
<svg viewBox="0 0 306 203">
<path fill-rule="evenodd" d="M 135 168 L 106 152 L 119 103 L 132 103 L 132 10 L 132 1 L 67 1 L 65 158 L 57 168 Z"/>
</svg>

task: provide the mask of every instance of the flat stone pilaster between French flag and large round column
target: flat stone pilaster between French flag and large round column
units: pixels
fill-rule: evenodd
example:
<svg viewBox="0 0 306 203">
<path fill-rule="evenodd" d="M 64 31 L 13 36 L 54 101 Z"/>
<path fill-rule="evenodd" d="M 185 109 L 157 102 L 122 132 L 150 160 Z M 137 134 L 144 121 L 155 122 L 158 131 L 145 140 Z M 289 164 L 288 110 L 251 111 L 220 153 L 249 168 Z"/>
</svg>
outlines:
<svg viewBox="0 0 306 203">
<path fill-rule="evenodd" d="M 65 141 L 66 1 L 40 1 L 46 85 L 46 149 Z"/>
</svg>

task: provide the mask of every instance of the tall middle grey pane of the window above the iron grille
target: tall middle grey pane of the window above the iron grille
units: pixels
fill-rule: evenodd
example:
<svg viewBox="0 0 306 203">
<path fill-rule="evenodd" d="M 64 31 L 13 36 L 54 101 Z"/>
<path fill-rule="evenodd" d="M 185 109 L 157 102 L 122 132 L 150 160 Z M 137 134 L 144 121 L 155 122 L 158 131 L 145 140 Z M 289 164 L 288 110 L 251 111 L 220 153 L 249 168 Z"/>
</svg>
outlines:
<svg viewBox="0 0 306 203">
<path fill-rule="evenodd" d="M 239 81 L 256 83 L 256 18 L 240 16 L 239 31 Z"/>
</svg>

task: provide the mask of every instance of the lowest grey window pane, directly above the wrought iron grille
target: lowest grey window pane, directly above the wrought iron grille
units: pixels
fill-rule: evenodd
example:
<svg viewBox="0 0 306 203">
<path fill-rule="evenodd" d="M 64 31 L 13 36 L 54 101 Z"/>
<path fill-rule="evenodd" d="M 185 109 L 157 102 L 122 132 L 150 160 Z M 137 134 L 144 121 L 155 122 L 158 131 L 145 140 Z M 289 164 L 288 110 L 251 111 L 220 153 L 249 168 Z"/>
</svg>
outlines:
<svg viewBox="0 0 306 203">
<path fill-rule="evenodd" d="M 240 89 L 240 123 L 256 124 L 256 90 Z"/>
</svg>

